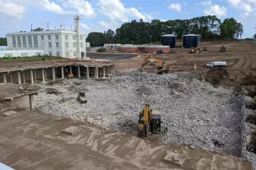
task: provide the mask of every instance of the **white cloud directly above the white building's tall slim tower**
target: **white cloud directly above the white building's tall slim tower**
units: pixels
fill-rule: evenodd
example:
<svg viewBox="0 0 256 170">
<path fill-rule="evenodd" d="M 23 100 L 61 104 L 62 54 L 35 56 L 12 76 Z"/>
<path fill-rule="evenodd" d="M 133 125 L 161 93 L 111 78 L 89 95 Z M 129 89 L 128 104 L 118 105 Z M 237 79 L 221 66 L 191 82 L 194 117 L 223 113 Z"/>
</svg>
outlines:
<svg viewBox="0 0 256 170">
<path fill-rule="evenodd" d="M 76 9 L 77 12 L 75 13 L 83 15 L 86 18 L 93 18 L 97 15 L 90 2 L 84 0 L 68 0 L 63 3 L 63 7 Z"/>
</svg>

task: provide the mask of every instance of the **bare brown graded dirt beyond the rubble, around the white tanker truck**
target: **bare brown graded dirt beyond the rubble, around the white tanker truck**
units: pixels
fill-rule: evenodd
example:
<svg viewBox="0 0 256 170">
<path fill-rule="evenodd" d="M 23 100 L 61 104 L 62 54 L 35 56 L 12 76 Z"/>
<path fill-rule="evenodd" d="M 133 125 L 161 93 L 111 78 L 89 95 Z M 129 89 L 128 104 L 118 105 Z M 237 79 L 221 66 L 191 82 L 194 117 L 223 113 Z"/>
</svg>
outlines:
<svg viewBox="0 0 256 170">
<path fill-rule="evenodd" d="M 198 73 L 205 73 L 209 69 L 206 64 L 211 61 L 227 61 L 229 80 L 226 84 L 241 83 L 249 73 L 256 75 L 256 41 L 240 41 L 225 43 L 226 52 L 219 52 L 221 43 L 202 43 L 201 48 L 207 47 L 208 53 L 188 53 L 188 49 L 171 49 L 169 54 L 155 54 L 172 72 L 193 70 L 194 64 Z M 118 60 L 117 69 L 121 72 L 132 72 L 140 69 L 146 54 L 129 60 Z M 157 66 L 146 66 L 144 71 L 155 72 Z"/>
</svg>

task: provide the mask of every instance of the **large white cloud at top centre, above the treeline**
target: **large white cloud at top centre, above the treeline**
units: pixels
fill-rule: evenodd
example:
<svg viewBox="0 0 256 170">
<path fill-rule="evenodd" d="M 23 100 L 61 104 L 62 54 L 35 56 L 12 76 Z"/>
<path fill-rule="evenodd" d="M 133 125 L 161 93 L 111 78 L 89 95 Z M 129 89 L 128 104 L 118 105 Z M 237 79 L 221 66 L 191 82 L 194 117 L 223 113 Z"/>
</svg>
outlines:
<svg viewBox="0 0 256 170">
<path fill-rule="evenodd" d="M 135 17 L 137 19 L 143 19 L 143 21 L 149 21 L 148 17 L 140 13 L 137 9 L 125 8 L 120 0 L 98 0 L 98 5 L 101 7 L 99 12 L 102 15 L 108 16 L 112 21 L 118 22 L 128 22 L 129 16 Z"/>
</svg>

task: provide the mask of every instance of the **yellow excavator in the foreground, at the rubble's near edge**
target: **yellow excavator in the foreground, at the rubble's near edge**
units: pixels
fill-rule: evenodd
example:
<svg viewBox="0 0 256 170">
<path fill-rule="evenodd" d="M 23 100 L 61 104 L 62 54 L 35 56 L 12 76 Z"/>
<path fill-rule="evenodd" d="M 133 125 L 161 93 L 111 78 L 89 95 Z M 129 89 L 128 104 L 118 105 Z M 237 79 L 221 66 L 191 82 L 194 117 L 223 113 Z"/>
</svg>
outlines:
<svg viewBox="0 0 256 170">
<path fill-rule="evenodd" d="M 161 126 L 161 123 L 160 111 L 152 110 L 149 104 L 145 104 L 139 115 L 138 137 L 148 138 L 150 133 L 166 133 L 168 129 Z"/>
</svg>

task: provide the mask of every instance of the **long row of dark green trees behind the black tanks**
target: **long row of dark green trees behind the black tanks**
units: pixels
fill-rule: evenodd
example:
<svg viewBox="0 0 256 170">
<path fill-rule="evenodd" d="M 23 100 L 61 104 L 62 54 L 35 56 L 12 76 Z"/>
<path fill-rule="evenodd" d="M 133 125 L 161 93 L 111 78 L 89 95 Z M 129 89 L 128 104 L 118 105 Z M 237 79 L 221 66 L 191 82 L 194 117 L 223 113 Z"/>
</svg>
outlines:
<svg viewBox="0 0 256 170">
<path fill-rule="evenodd" d="M 220 39 L 238 39 L 243 35 L 243 25 L 234 18 L 226 18 L 223 22 L 216 16 L 201 16 L 192 19 L 176 19 L 160 21 L 158 19 L 144 22 L 143 19 L 125 22 L 116 32 L 91 32 L 87 42 L 91 46 L 102 46 L 104 43 L 151 44 L 160 43 L 161 36 L 174 34 L 177 39 L 182 35 L 199 34 L 202 41 Z"/>
</svg>

